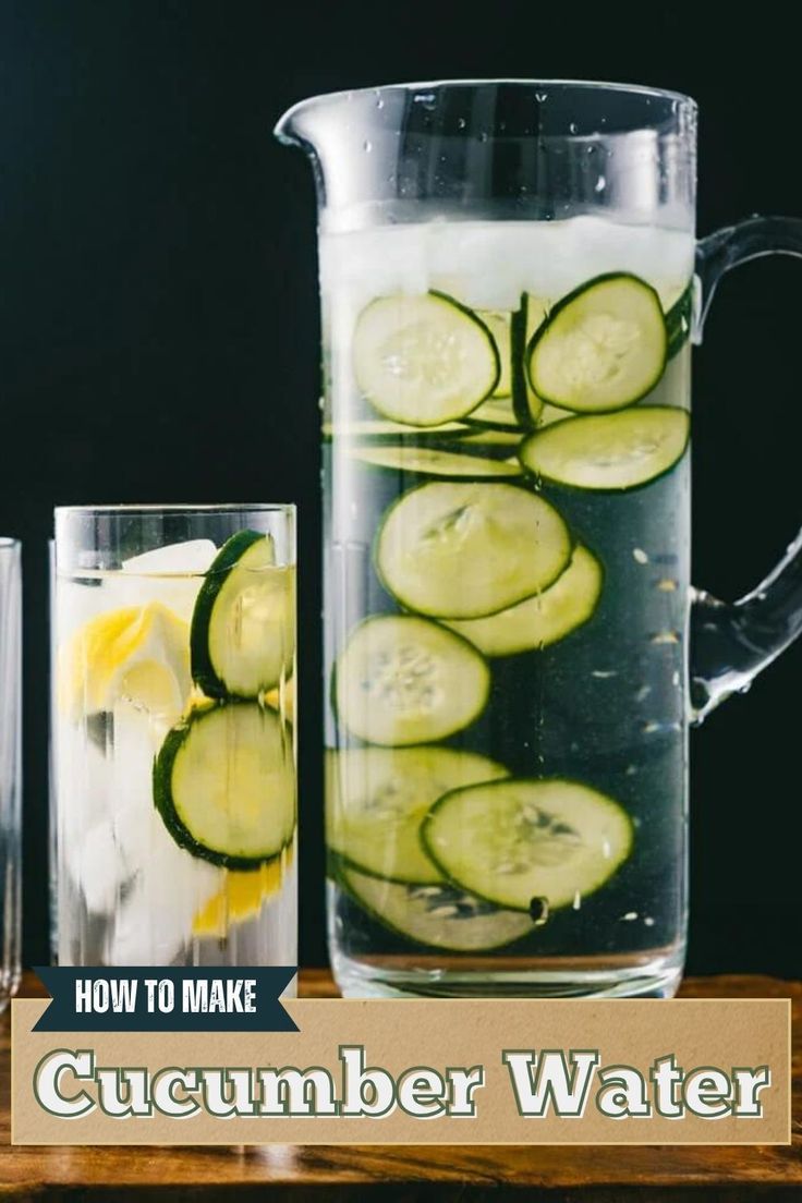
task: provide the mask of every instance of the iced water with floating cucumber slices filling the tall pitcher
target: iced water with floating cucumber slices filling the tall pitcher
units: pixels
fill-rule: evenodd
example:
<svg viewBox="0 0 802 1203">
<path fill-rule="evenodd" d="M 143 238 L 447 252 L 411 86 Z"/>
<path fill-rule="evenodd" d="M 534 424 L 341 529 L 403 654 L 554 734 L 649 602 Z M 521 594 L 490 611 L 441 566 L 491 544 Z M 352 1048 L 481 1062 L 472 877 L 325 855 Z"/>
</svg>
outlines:
<svg viewBox="0 0 802 1203">
<path fill-rule="evenodd" d="M 666 994 L 690 235 L 325 235 L 326 828 L 350 994 Z"/>
</svg>

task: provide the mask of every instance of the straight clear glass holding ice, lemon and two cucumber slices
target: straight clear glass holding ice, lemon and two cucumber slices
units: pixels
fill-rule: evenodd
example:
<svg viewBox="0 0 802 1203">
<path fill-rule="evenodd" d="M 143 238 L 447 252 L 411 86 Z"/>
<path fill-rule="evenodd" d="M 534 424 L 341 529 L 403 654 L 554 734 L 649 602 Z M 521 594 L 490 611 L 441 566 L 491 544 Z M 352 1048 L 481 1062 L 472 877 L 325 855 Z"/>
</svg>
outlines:
<svg viewBox="0 0 802 1203">
<path fill-rule="evenodd" d="M 63 965 L 293 965 L 295 508 L 55 511 Z"/>
</svg>

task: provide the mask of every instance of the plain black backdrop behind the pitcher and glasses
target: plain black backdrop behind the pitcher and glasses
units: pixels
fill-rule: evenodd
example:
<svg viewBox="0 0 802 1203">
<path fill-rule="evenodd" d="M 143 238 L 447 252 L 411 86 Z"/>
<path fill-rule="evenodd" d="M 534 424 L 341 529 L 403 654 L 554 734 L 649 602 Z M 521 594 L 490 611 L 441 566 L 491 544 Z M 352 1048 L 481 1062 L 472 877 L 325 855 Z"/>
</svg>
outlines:
<svg viewBox="0 0 802 1203">
<path fill-rule="evenodd" d="M 54 503 L 296 500 L 302 961 L 322 964 L 317 313 L 292 101 L 402 79 L 640 82 L 701 106 L 702 233 L 802 214 L 779 6 L 0 4 L 0 528 L 25 540 L 25 960 L 47 958 Z M 695 363 L 695 576 L 731 598 L 800 522 L 800 265 L 721 288 Z M 798 976 L 802 648 L 693 736 L 690 968 Z"/>
</svg>

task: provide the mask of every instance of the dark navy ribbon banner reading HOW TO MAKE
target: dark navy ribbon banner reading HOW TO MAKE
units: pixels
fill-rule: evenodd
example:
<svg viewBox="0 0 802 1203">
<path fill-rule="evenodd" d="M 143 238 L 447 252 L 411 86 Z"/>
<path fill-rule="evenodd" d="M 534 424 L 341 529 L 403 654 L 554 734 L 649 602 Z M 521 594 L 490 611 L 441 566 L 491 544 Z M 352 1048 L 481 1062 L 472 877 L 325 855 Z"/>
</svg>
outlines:
<svg viewBox="0 0 802 1203">
<path fill-rule="evenodd" d="M 298 1031 L 279 998 L 297 972 L 295 965 L 269 968 L 60 965 L 35 966 L 35 972 L 53 996 L 35 1032 Z"/>
</svg>

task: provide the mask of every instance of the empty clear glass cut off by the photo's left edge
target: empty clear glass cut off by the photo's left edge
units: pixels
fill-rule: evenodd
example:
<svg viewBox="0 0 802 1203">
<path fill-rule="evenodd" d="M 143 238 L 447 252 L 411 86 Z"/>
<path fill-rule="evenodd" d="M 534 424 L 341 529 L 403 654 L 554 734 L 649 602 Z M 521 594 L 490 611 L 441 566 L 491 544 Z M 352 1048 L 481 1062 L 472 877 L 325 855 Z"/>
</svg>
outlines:
<svg viewBox="0 0 802 1203">
<path fill-rule="evenodd" d="M 0 539 L 0 1011 L 22 972 L 20 545 Z"/>
</svg>

